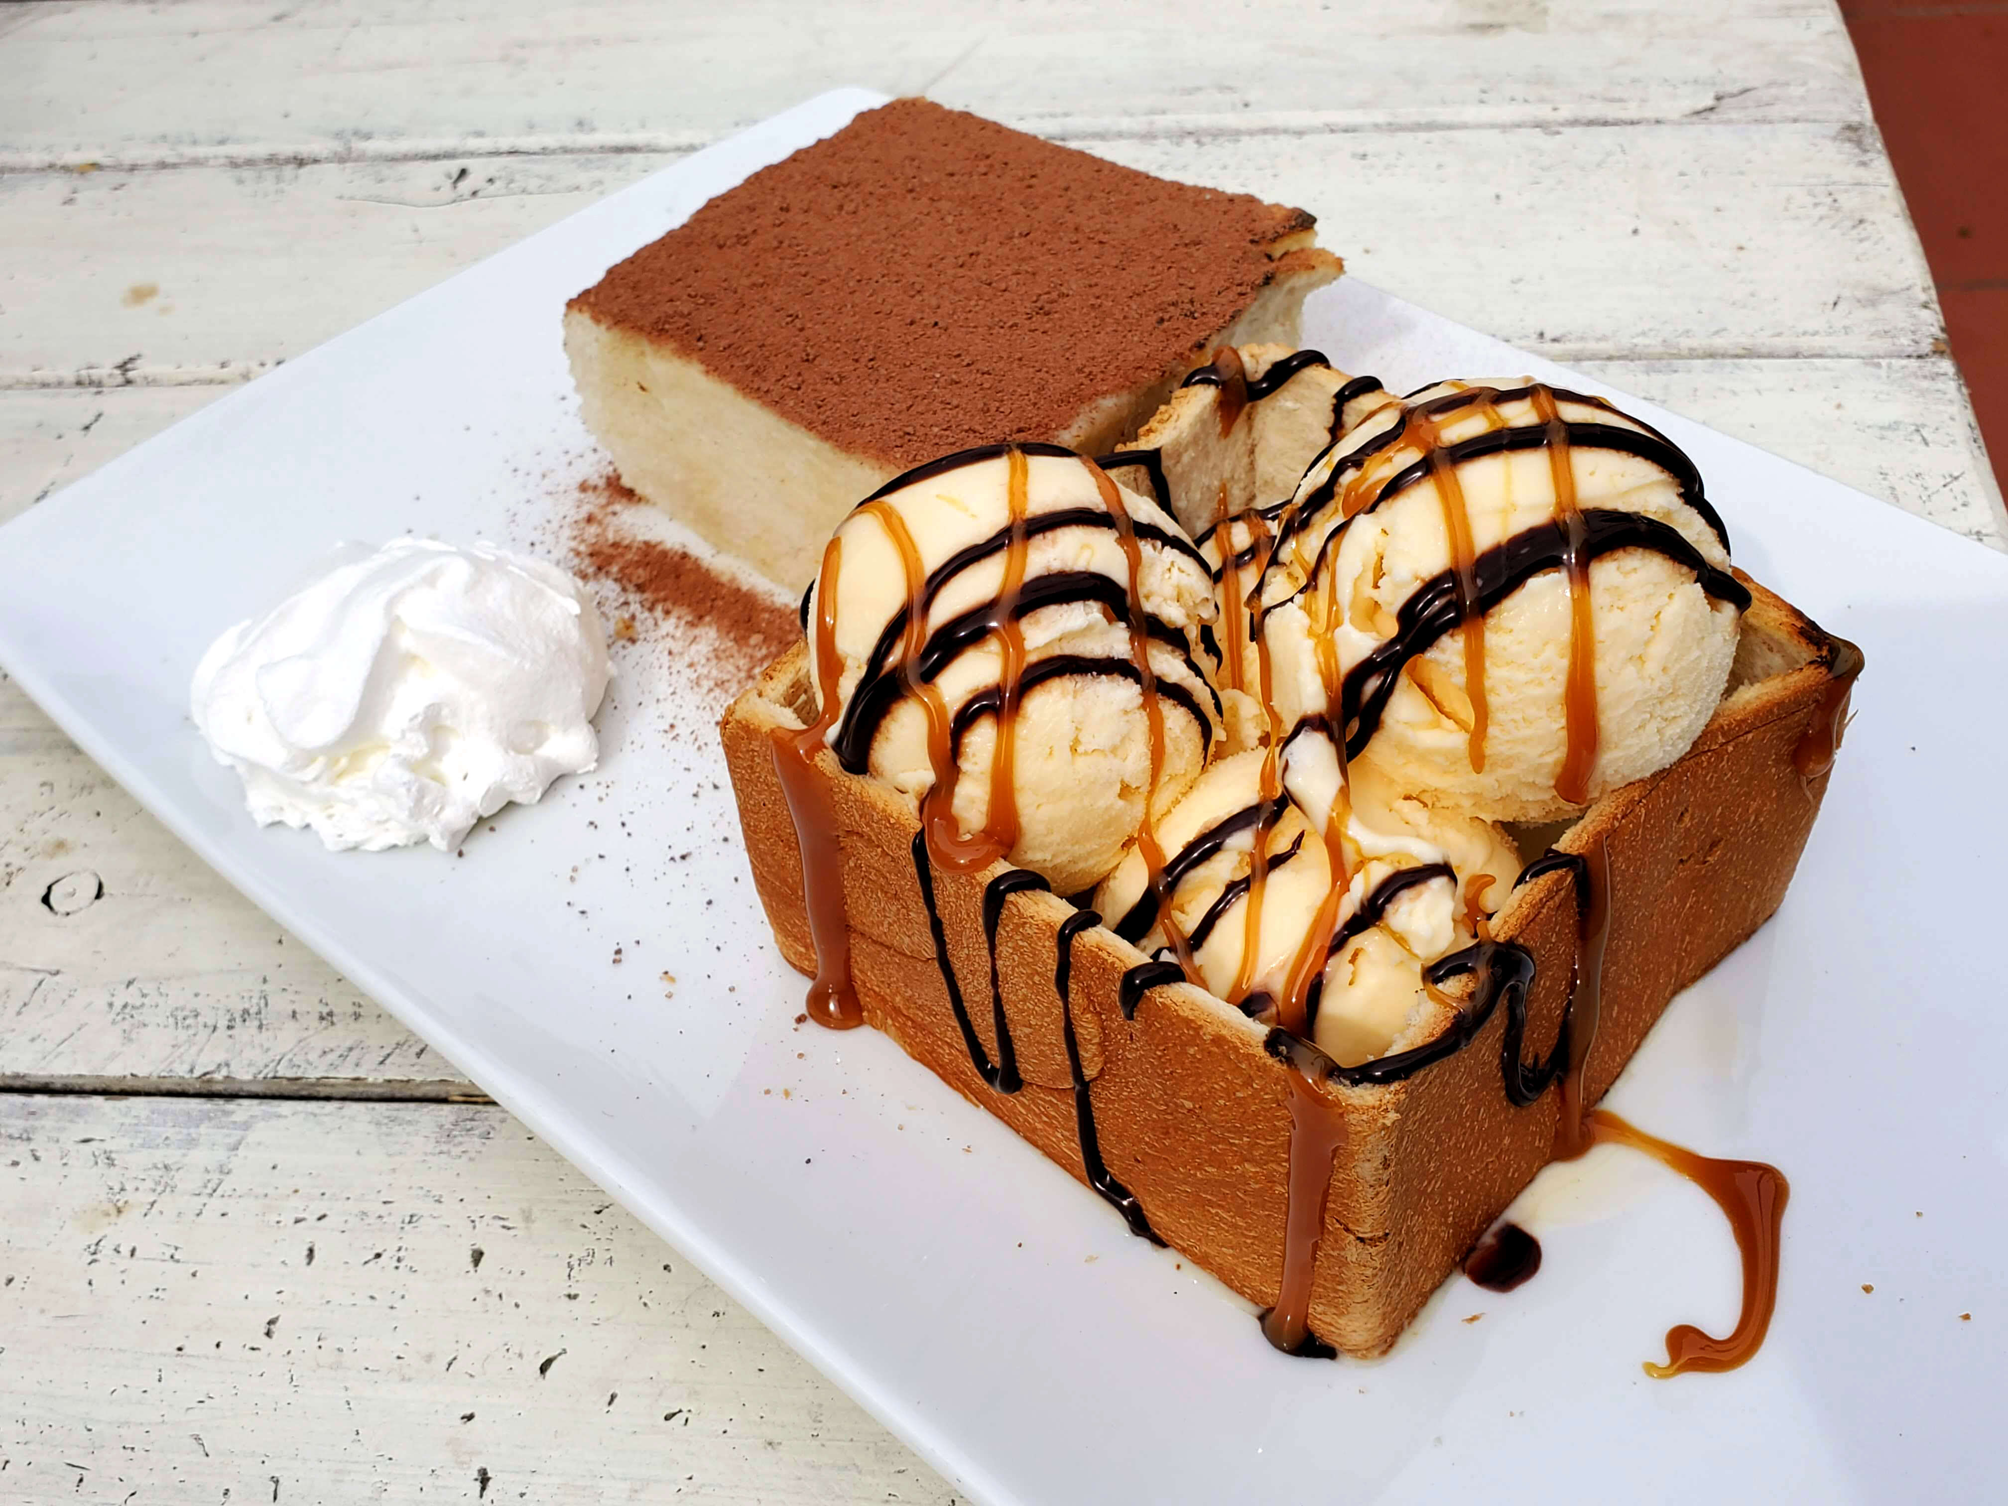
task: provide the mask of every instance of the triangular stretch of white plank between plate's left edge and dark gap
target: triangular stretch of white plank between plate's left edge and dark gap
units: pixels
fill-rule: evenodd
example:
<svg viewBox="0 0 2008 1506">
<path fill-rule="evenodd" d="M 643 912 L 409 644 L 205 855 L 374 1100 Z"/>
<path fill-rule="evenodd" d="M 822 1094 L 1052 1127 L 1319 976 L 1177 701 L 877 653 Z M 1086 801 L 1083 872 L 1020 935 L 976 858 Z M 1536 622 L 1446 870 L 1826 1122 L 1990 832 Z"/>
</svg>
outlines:
<svg viewBox="0 0 2008 1506">
<path fill-rule="evenodd" d="M 4 677 L 0 1042 L 0 1086 L 181 1078 L 307 1092 L 341 1080 L 345 1092 L 476 1094 Z"/>
</svg>

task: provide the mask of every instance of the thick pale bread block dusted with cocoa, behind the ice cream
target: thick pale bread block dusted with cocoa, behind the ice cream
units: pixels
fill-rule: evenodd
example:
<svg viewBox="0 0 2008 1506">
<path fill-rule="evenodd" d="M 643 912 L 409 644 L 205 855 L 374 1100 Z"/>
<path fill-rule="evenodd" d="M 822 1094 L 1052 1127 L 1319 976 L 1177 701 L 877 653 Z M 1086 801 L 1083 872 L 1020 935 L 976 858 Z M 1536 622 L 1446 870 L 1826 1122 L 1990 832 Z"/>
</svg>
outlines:
<svg viewBox="0 0 2008 1506">
<path fill-rule="evenodd" d="M 564 347 L 620 480 L 793 590 L 912 466 L 1100 454 L 1207 349 L 1295 341 L 1311 225 L 902 98 L 614 265 Z"/>
</svg>

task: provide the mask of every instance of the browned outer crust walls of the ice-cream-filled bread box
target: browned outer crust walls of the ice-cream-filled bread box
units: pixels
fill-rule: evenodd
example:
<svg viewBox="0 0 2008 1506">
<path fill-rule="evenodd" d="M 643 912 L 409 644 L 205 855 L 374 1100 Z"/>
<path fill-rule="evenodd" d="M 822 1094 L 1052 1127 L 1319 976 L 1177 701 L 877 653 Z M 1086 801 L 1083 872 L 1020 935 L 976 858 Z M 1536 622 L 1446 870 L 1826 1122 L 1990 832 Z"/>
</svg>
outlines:
<svg viewBox="0 0 2008 1506">
<path fill-rule="evenodd" d="M 1829 711 L 1839 645 L 1747 576 L 1739 669 L 1693 749 L 1588 807 L 1556 841 L 1608 841 L 1612 926 L 1602 1016 L 1584 1070 L 1596 1102 L 1667 1002 L 1777 910 L 1825 795 L 1793 753 Z M 799 729 L 807 655 L 779 659 L 721 723 L 761 904 L 783 956 L 813 972 L 795 829 L 773 769 L 775 729 Z M 1056 932 L 1074 914 L 1050 894 L 1014 896 L 998 932 L 998 980 L 1026 1086 L 992 1090 L 972 1068 L 936 964 L 912 863 L 912 807 L 890 785 L 843 773 L 823 751 L 843 853 L 851 958 L 867 1024 L 970 1102 L 1084 1179 L 1054 992 Z M 966 998 L 988 1002 L 986 873 L 934 875 L 948 952 Z M 1522 886 L 1494 934 L 1532 952 L 1522 1056 L 1560 1030 L 1576 950 L 1576 890 L 1550 871 Z M 1106 928 L 1074 942 L 1072 1014 L 1108 1169 L 1153 1227 L 1253 1303 L 1277 1299 L 1289 1179 L 1289 1072 L 1263 1026 L 1191 984 L 1153 988 L 1120 1010 L 1120 980 L 1145 956 Z M 990 1010 L 970 1010 L 996 1050 Z M 1446 1006 L 1400 1046 L 1450 1024 Z M 1311 1331 L 1351 1355 L 1386 1351 L 1436 1285 L 1548 1163 L 1558 1094 L 1516 1108 L 1500 1084 L 1506 1010 L 1456 1054 L 1400 1082 L 1319 1090 L 1345 1116 L 1311 1289 Z"/>
</svg>

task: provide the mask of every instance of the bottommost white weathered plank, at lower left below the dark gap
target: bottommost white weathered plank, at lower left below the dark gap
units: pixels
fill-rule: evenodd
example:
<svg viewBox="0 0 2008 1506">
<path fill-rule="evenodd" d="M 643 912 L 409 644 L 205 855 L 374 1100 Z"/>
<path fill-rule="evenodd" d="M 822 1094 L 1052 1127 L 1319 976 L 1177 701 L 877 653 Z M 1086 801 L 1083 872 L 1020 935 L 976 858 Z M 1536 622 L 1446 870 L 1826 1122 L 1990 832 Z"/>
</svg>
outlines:
<svg viewBox="0 0 2008 1506">
<path fill-rule="evenodd" d="M 14 1502 L 956 1500 L 500 1108 L 0 1094 L 0 1189 Z"/>
</svg>

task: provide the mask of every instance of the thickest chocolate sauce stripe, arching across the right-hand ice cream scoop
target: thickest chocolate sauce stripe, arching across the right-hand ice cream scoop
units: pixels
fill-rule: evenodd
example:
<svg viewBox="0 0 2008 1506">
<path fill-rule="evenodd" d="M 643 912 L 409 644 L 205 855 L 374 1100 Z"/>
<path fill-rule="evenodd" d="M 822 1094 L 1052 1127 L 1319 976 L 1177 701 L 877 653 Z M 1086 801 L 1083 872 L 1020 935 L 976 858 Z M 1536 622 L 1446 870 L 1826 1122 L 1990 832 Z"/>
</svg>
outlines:
<svg viewBox="0 0 2008 1506">
<path fill-rule="evenodd" d="M 1649 548 L 1693 570 L 1701 588 L 1717 600 L 1727 600 L 1737 610 L 1745 610 L 1751 604 L 1749 588 L 1727 570 L 1717 570 L 1701 558 L 1701 550 L 1689 544 L 1671 524 L 1649 518 L 1643 512 L 1616 512 L 1610 508 L 1588 508 L 1578 516 L 1582 524 L 1580 550 L 1586 560 L 1602 558 L 1620 548 Z M 1331 538 L 1337 536 L 1337 532 L 1331 534 Z M 1327 538 L 1327 548 L 1329 542 Z M 1570 546 L 1570 530 L 1558 520 L 1534 524 L 1494 544 L 1472 562 L 1476 580 L 1472 610 L 1480 614 L 1490 612 L 1542 570 L 1558 568 L 1566 560 Z M 1382 713 L 1388 709 L 1388 699 L 1394 695 L 1408 661 L 1428 653 L 1438 639 L 1464 622 L 1458 594 L 1456 570 L 1444 570 L 1426 580 L 1402 602 L 1402 610 L 1396 612 L 1394 637 L 1345 671 L 1339 711 L 1347 727 L 1347 759 L 1357 759 L 1373 739 Z"/>
</svg>

